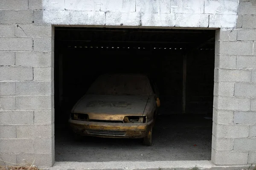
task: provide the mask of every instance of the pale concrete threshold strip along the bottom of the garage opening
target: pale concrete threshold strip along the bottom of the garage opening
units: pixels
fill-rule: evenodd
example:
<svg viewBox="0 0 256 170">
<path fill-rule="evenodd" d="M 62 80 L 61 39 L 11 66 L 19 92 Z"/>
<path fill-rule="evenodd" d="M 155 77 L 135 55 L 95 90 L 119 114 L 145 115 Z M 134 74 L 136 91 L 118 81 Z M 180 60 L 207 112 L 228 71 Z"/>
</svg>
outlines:
<svg viewBox="0 0 256 170">
<path fill-rule="evenodd" d="M 196 168 L 197 167 L 197 168 Z M 248 170 L 250 164 L 218 166 L 211 161 L 55 162 L 45 170 Z M 253 170 L 251 167 L 250 170 Z M 43 169 L 44 170 L 44 169 Z"/>
</svg>

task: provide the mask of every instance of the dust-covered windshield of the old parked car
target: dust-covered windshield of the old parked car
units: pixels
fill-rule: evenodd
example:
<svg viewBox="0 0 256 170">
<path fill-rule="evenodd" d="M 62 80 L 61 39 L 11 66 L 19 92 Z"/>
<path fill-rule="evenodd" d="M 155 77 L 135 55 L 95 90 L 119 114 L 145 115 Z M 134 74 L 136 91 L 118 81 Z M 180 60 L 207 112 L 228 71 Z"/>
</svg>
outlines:
<svg viewBox="0 0 256 170">
<path fill-rule="evenodd" d="M 148 78 L 143 75 L 102 75 L 87 94 L 150 95 Z"/>
</svg>

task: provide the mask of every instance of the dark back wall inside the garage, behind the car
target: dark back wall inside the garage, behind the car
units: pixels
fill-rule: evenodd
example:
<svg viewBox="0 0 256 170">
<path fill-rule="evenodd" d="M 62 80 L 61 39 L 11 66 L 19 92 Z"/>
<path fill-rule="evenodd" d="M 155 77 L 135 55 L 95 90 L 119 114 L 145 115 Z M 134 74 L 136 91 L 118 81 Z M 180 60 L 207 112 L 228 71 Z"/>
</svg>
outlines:
<svg viewBox="0 0 256 170">
<path fill-rule="evenodd" d="M 61 46 L 61 42 L 56 42 L 55 37 L 55 43 Z M 77 100 L 86 93 L 96 77 L 106 72 L 150 75 L 160 92 L 161 113 L 182 113 L 183 56 L 186 53 L 186 50 L 180 49 L 69 49 L 67 45 L 58 50 L 55 48 L 55 101 L 59 101 L 59 104 L 55 102 L 55 118 L 59 113 L 56 122 L 66 122 L 67 116 L 63 117 L 63 113 L 68 112 L 69 118 Z M 185 113 L 212 115 L 214 49 L 194 50 L 186 58 Z M 61 79 L 58 79 L 60 76 Z M 57 111 L 58 107 L 63 111 Z"/>
</svg>

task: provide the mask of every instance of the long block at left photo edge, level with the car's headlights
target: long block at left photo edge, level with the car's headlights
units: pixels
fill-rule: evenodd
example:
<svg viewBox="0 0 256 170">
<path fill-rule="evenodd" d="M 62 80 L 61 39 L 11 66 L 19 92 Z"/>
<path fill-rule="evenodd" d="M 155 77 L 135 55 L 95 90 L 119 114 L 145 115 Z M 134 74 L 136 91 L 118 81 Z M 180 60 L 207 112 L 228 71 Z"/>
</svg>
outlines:
<svg viewBox="0 0 256 170">
<path fill-rule="evenodd" d="M 33 111 L 1 111 L 0 124 L 33 124 Z"/>
</svg>

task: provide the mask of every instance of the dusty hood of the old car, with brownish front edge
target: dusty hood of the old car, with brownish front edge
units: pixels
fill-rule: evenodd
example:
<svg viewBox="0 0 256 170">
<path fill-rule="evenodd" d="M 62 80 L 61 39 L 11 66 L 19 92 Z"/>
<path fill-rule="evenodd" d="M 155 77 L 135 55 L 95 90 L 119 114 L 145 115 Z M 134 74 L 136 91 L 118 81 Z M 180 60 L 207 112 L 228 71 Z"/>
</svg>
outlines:
<svg viewBox="0 0 256 170">
<path fill-rule="evenodd" d="M 119 120 L 124 116 L 143 116 L 148 96 L 85 95 L 73 107 L 73 113 L 86 113 L 89 119 Z"/>
</svg>

